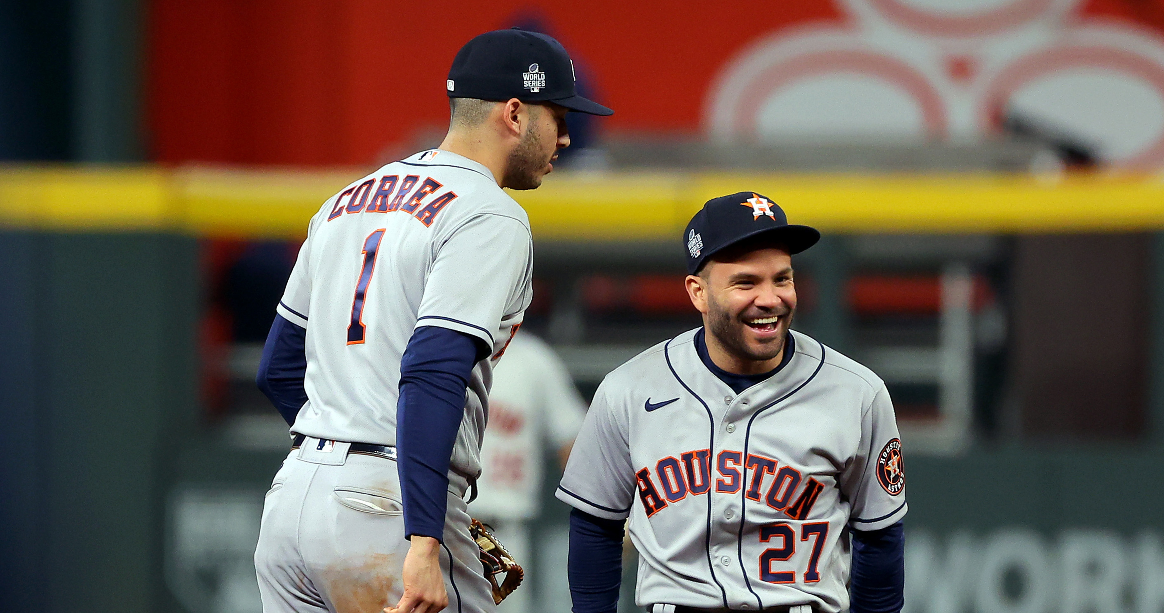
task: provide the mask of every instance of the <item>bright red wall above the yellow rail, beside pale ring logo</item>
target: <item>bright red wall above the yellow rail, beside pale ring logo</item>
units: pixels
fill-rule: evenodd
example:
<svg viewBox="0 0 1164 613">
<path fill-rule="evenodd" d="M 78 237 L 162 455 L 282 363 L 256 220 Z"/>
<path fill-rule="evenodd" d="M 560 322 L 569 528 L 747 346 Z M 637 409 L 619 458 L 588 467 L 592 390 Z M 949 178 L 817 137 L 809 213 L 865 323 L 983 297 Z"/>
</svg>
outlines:
<svg viewBox="0 0 1164 613">
<path fill-rule="evenodd" d="M 155 0 L 148 125 L 163 162 L 367 164 L 448 118 L 445 76 L 470 37 L 540 17 L 615 108 L 603 129 L 694 133 L 708 83 L 758 36 L 838 20 L 831 2 L 596 0 L 514 10 L 446 0 Z M 1085 13 L 1164 26 L 1164 0 Z M 395 153 L 395 152 L 393 152 Z"/>
</svg>

